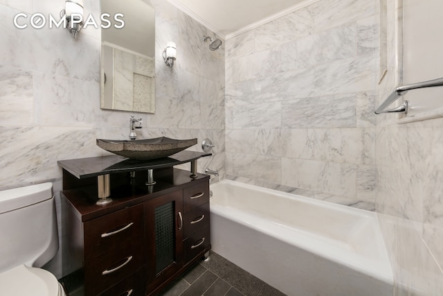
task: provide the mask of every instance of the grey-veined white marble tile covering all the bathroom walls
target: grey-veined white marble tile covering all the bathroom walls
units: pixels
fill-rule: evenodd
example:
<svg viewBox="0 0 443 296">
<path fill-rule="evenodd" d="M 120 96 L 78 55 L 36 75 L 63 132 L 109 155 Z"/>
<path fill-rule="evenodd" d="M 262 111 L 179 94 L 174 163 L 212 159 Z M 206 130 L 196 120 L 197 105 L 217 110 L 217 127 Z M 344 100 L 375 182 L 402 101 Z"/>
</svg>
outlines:
<svg viewBox="0 0 443 296">
<path fill-rule="evenodd" d="M 372 115 L 397 84 L 396 1 L 388 1 L 388 76 L 377 89 L 377 1 L 320 0 L 214 52 L 201 42 L 206 28 L 168 1 L 150 2 L 156 114 L 136 114 L 140 137 L 210 137 L 215 157 L 199 171 L 368 209 L 376 202 L 397 295 L 443 294 L 443 122 L 379 116 L 376 125 Z M 98 1 L 85 7 L 98 16 Z M 104 155 L 96 138 L 129 133 L 132 112 L 100 110 L 98 31 L 73 40 L 62 29 L 12 25 L 18 12 L 60 10 L 0 0 L 0 189 L 51 181 L 57 193 L 58 159 Z M 172 71 L 161 58 L 168 41 L 178 47 Z M 59 254 L 47 268 L 61 277 L 60 267 Z"/>
</svg>

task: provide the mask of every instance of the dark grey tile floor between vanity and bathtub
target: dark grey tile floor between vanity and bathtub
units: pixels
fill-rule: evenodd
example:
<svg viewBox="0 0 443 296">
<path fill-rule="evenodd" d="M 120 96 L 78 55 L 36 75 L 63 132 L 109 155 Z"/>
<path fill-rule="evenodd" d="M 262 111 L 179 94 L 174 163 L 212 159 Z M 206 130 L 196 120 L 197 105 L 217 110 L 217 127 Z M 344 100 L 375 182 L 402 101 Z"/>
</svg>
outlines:
<svg viewBox="0 0 443 296">
<path fill-rule="evenodd" d="M 285 296 L 219 254 L 195 264 L 161 296 Z"/>
</svg>

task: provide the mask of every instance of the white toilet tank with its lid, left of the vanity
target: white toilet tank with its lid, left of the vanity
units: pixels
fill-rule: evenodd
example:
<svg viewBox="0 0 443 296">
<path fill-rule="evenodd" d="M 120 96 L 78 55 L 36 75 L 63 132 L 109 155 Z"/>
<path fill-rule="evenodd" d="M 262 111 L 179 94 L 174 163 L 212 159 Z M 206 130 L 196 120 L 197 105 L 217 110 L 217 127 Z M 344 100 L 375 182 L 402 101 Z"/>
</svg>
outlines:
<svg viewBox="0 0 443 296">
<path fill-rule="evenodd" d="M 0 191 L 0 272 L 42 267 L 58 250 L 53 184 Z"/>
</svg>

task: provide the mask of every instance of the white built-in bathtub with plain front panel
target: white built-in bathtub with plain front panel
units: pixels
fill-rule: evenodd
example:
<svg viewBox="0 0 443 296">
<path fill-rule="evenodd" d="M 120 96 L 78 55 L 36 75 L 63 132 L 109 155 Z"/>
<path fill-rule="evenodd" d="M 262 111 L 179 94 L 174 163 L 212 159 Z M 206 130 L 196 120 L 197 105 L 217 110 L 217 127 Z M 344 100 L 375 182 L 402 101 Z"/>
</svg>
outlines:
<svg viewBox="0 0 443 296">
<path fill-rule="evenodd" d="M 213 251 L 282 293 L 392 296 L 376 214 L 230 180 L 210 189 Z"/>
</svg>

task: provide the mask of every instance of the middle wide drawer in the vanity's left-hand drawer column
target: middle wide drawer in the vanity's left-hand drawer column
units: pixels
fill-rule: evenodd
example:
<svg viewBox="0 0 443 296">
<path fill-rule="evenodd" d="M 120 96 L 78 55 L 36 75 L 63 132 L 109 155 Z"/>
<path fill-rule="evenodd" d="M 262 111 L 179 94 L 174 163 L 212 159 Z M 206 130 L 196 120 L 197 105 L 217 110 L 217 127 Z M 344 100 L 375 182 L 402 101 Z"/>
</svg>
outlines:
<svg viewBox="0 0 443 296">
<path fill-rule="evenodd" d="M 122 248 L 84 264 L 85 295 L 98 295 L 143 265 L 140 248 Z M 115 295 L 115 294 L 114 294 Z"/>
</svg>

